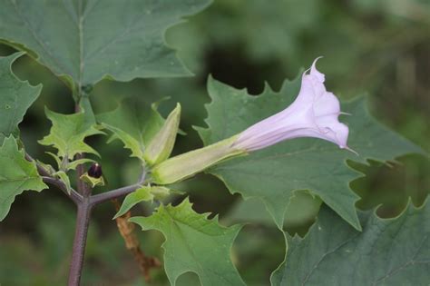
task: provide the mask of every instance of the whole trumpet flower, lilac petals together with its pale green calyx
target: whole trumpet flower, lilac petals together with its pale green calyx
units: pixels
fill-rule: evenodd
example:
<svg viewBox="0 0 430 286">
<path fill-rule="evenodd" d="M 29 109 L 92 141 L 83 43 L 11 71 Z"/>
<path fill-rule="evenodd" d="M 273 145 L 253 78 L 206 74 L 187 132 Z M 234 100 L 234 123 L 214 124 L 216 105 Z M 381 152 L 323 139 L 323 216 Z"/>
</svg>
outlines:
<svg viewBox="0 0 430 286">
<path fill-rule="evenodd" d="M 151 171 L 152 182 L 178 182 L 227 158 L 299 137 L 324 139 L 350 150 L 348 127 L 338 121 L 342 113 L 339 101 L 335 94 L 327 92 L 317 61 L 302 75 L 298 97 L 286 109 L 219 143 L 156 164 Z"/>
</svg>

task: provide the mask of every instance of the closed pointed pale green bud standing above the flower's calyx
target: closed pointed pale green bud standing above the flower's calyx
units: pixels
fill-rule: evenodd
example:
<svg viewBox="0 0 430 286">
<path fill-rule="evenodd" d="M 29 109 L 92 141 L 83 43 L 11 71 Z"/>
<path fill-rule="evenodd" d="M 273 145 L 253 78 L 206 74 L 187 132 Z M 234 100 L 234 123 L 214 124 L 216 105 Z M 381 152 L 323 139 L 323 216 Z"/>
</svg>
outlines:
<svg viewBox="0 0 430 286">
<path fill-rule="evenodd" d="M 143 153 L 143 159 L 149 165 L 161 163 L 171 155 L 181 120 L 181 104 L 169 114 L 161 130 L 152 138 Z"/>
</svg>

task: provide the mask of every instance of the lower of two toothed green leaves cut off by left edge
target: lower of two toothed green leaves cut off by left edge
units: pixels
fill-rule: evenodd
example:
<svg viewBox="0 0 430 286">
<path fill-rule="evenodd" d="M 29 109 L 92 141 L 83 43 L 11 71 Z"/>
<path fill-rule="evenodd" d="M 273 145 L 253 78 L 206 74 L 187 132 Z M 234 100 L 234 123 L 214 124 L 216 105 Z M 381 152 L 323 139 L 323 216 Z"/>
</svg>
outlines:
<svg viewBox="0 0 430 286">
<path fill-rule="evenodd" d="M 34 162 L 24 158 L 13 136 L 5 138 L 0 147 L 0 221 L 5 219 L 15 196 L 25 190 L 40 192 L 47 188 L 37 173 Z"/>
</svg>

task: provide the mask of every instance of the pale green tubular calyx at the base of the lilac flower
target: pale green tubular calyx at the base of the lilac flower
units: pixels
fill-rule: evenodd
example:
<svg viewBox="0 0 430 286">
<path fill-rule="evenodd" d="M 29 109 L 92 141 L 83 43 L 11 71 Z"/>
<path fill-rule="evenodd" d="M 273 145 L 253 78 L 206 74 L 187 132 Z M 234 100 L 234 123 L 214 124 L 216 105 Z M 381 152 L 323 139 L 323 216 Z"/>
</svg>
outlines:
<svg viewBox="0 0 430 286">
<path fill-rule="evenodd" d="M 246 154 L 246 151 L 233 146 L 236 140 L 237 136 L 233 136 L 219 143 L 213 143 L 159 163 L 152 169 L 151 180 L 158 184 L 179 182 L 216 163 L 220 163 L 222 160 Z"/>
</svg>

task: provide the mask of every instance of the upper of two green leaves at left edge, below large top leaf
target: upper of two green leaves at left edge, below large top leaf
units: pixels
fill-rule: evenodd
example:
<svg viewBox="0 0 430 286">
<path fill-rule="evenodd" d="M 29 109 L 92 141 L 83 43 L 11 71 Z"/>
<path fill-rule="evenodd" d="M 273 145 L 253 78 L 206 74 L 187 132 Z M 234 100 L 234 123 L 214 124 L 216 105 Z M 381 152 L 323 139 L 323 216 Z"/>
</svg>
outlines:
<svg viewBox="0 0 430 286">
<path fill-rule="evenodd" d="M 0 144 L 9 134 L 15 133 L 28 107 L 42 90 L 42 84 L 32 86 L 20 81 L 12 72 L 12 64 L 23 54 L 0 57 Z"/>
</svg>

